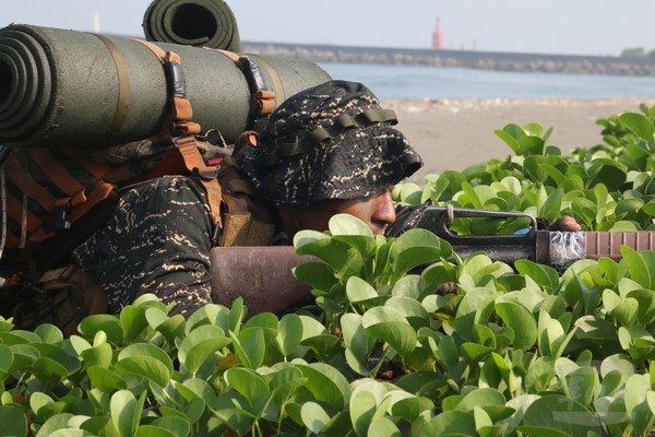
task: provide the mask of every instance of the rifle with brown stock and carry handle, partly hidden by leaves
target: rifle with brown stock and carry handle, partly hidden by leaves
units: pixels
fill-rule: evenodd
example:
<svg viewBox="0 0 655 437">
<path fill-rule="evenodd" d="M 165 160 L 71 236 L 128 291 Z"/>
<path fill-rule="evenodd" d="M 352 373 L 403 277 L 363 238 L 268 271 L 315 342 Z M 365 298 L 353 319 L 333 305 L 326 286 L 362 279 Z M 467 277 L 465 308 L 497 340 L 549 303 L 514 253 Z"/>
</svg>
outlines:
<svg viewBox="0 0 655 437">
<path fill-rule="evenodd" d="M 483 251 L 495 261 L 513 265 L 526 259 L 563 269 L 580 259 L 602 257 L 619 260 L 621 245 L 636 250 L 655 248 L 655 232 L 561 232 L 540 229 L 535 216 L 523 212 L 428 206 L 417 211 L 412 227 L 431 231 L 449 241 L 461 258 Z M 529 226 L 513 235 L 457 235 L 451 231 L 456 217 L 525 217 Z M 241 296 L 250 314 L 282 312 L 313 302 L 310 287 L 297 281 L 291 269 L 314 257 L 298 256 L 291 246 L 216 247 L 212 249 L 212 298 L 229 306 Z"/>
</svg>

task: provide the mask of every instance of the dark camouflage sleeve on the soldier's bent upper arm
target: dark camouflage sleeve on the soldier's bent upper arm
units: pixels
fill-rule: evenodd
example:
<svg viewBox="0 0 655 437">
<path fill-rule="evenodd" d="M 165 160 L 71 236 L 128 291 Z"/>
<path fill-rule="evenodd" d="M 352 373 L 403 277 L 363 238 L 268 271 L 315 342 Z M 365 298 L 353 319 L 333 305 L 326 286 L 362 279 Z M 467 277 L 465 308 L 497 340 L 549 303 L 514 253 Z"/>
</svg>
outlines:
<svg viewBox="0 0 655 437">
<path fill-rule="evenodd" d="M 117 314 L 143 293 L 154 293 L 171 314 L 191 315 L 210 304 L 213 222 L 200 184 L 166 176 L 128 189 L 106 226 L 73 252 L 93 273 Z"/>
</svg>

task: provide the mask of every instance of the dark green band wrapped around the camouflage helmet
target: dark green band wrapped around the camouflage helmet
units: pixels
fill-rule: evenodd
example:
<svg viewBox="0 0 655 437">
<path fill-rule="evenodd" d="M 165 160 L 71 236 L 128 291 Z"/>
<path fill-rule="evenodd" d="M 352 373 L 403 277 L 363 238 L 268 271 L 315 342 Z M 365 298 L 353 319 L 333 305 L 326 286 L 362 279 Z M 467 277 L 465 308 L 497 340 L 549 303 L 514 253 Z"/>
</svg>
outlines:
<svg viewBox="0 0 655 437">
<path fill-rule="evenodd" d="M 393 109 L 368 109 L 356 114 L 342 114 L 330 126 L 321 126 L 294 142 L 278 144 L 275 151 L 265 152 L 257 157 L 257 164 L 270 167 L 282 157 L 295 156 L 312 150 L 324 141 L 334 139 L 353 128 L 366 128 L 372 125 L 395 125 L 397 118 Z"/>
</svg>

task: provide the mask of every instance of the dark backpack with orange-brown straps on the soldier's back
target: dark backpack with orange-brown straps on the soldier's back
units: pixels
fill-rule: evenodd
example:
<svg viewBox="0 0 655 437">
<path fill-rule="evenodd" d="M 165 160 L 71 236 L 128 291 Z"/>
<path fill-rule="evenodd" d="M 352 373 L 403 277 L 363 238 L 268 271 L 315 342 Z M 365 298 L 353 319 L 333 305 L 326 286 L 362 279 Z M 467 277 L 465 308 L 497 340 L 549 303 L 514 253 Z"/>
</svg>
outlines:
<svg viewBox="0 0 655 437">
<path fill-rule="evenodd" d="M 102 290 L 68 257 L 107 222 L 121 190 L 133 184 L 164 175 L 196 178 L 207 192 L 215 245 L 261 246 L 273 236 L 267 203 L 241 177 L 230 150 L 216 145 L 221 135 L 199 137 L 200 127 L 189 121 L 179 57 L 151 49 L 167 71 L 176 69 L 166 62 L 178 68 L 167 76 L 171 110 L 160 134 L 107 149 L 0 146 L 0 314 L 21 316 L 20 328 L 52 322 L 70 334 L 90 308 L 103 307 L 96 302 Z"/>
</svg>

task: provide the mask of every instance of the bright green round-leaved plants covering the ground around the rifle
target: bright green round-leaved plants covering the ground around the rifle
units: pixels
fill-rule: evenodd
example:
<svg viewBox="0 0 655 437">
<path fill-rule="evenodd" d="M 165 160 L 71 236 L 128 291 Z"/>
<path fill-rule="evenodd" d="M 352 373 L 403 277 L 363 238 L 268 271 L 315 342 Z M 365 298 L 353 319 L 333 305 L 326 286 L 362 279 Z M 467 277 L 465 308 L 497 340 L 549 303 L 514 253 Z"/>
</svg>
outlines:
<svg viewBox="0 0 655 437">
<path fill-rule="evenodd" d="M 512 151 L 397 187 L 397 201 L 574 216 L 653 229 L 654 109 L 611 116 L 569 156 L 539 125 Z M 521 222 L 458 218 L 461 233 Z M 640 436 L 655 422 L 655 252 L 565 271 L 476 253 L 424 229 L 373 237 L 352 216 L 301 232 L 317 306 L 247 318 L 240 299 L 188 320 L 144 295 L 64 339 L 0 320 L 0 436 Z M 416 272 L 415 268 L 431 262 Z M 273 293 L 273 291 L 272 291 Z"/>
</svg>

